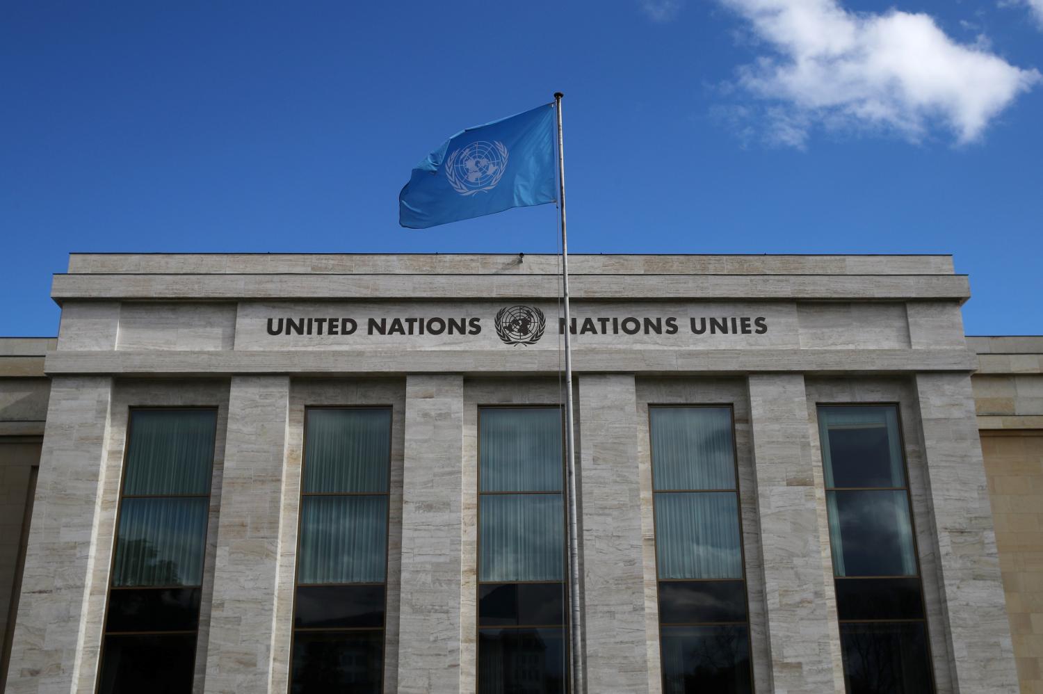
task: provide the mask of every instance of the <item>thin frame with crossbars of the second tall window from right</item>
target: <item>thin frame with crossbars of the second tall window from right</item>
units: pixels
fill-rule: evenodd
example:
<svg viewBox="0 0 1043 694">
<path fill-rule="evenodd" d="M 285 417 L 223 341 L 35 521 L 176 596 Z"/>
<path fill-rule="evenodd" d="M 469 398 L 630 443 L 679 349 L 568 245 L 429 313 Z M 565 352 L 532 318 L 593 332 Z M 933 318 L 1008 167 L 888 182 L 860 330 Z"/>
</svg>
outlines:
<svg viewBox="0 0 1043 694">
<path fill-rule="evenodd" d="M 654 409 L 721 409 L 725 408 L 728 410 L 728 417 L 731 428 L 731 463 L 735 475 L 735 487 L 732 489 L 657 489 L 655 484 L 655 450 L 654 450 L 654 436 L 652 433 L 652 411 Z M 656 596 L 656 622 L 658 627 L 659 642 L 659 681 L 660 687 L 663 691 L 666 690 L 666 671 L 663 667 L 663 652 L 662 652 L 662 629 L 664 626 L 735 626 L 744 625 L 746 627 L 746 644 L 747 653 L 749 654 L 749 664 L 747 667 L 747 675 L 750 680 L 750 692 L 755 692 L 755 683 L 753 680 L 753 629 L 750 624 L 750 583 L 747 577 L 747 566 L 746 566 L 746 533 L 743 531 L 743 493 L 738 469 L 738 440 L 735 434 L 735 404 L 731 402 L 727 403 L 648 403 L 648 412 L 646 414 L 648 418 L 648 432 L 649 432 L 649 471 L 650 479 L 652 482 L 652 549 L 655 555 L 655 596 Z M 737 511 L 737 522 L 738 522 L 738 552 L 739 561 L 743 565 L 743 577 L 737 578 L 660 578 L 659 577 L 659 523 L 656 514 L 656 496 L 659 494 L 700 494 L 700 493 L 721 493 L 730 492 L 735 495 L 735 507 Z M 664 623 L 662 620 L 662 614 L 659 612 L 659 584 L 661 582 L 709 582 L 709 581 L 733 581 L 743 583 L 743 598 L 746 606 L 746 621 L 745 622 L 669 622 Z"/>
</svg>

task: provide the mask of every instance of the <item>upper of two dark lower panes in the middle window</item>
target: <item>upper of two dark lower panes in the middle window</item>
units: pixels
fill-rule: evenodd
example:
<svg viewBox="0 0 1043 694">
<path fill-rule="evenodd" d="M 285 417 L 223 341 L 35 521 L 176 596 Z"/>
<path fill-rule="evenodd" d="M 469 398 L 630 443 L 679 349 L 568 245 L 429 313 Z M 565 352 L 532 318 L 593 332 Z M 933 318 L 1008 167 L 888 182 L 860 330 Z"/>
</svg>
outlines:
<svg viewBox="0 0 1043 694">
<path fill-rule="evenodd" d="M 482 626 L 543 626 L 565 623 L 564 583 L 481 583 Z"/>
</svg>

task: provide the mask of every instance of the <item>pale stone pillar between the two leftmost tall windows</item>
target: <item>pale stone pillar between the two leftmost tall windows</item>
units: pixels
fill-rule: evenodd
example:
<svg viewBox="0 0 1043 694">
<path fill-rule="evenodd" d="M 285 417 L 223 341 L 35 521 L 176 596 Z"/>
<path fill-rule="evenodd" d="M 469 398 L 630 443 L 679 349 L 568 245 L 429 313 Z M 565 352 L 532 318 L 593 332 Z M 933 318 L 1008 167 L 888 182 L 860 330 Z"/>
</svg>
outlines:
<svg viewBox="0 0 1043 694">
<path fill-rule="evenodd" d="M 287 376 L 232 379 L 207 694 L 270 691 L 289 400 Z"/>
</svg>

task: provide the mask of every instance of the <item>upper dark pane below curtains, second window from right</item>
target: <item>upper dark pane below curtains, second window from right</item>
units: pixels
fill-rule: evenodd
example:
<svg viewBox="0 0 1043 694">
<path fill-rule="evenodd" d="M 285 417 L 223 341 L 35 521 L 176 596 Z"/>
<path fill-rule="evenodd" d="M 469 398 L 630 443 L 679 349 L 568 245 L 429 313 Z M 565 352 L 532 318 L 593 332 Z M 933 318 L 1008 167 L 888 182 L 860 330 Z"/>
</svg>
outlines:
<svg viewBox="0 0 1043 694">
<path fill-rule="evenodd" d="M 741 580 L 659 581 L 659 623 L 746 622 Z"/>
</svg>

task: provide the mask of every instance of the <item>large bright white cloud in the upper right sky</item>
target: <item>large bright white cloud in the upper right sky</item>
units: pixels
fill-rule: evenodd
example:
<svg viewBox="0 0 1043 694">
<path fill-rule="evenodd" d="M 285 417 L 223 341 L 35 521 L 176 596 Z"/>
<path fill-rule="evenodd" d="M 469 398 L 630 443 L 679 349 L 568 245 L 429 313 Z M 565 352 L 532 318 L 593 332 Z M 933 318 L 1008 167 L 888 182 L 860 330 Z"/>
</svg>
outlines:
<svg viewBox="0 0 1043 694">
<path fill-rule="evenodd" d="M 855 14 L 836 0 L 720 1 L 776 51 L 744 67 L 739 82 L 772 102 L 768 137 L 779 144 L 802 146 L 816 125 L 915 141 L 941 124 L 972 142 L 1041 78 L 980 38 L 953 41 L 927 15 Z"/>
</svg>

